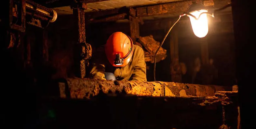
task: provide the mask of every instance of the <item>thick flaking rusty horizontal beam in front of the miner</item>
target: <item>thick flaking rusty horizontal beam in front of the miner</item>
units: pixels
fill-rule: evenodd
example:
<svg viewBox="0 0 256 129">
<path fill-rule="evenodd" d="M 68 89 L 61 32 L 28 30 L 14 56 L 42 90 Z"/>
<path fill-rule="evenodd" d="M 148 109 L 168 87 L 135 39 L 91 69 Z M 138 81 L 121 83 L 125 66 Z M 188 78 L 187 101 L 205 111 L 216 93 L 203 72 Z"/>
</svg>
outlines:
<svg viewBox="0 0 256 129">
<path fill-rule="evenodd" d="M 64 84 L 66 83 L 66 84 Z M 61 96 L 70 93 L 71 98 L 90 98 L 99 93 L 124 93 L 137 96 L 214 96 L 218 91 L 232 91 L 232 87 L 196 85 L 174 82 L 102 81 L 95 79 L 68 78 L 60 82 Z M 217 89 L 217 90 L 216 90 Z M 68 90 L 68 91 L 66 91 Z"/>
</svg>

